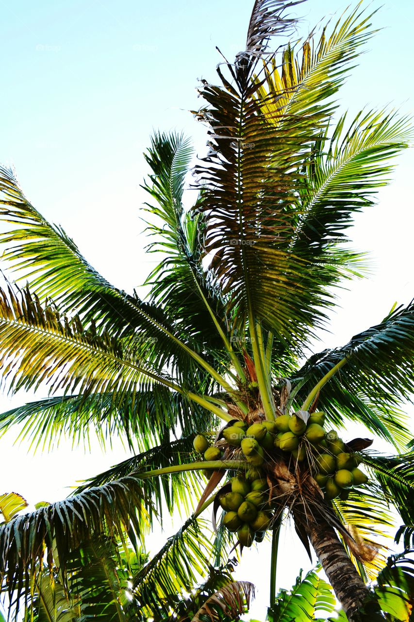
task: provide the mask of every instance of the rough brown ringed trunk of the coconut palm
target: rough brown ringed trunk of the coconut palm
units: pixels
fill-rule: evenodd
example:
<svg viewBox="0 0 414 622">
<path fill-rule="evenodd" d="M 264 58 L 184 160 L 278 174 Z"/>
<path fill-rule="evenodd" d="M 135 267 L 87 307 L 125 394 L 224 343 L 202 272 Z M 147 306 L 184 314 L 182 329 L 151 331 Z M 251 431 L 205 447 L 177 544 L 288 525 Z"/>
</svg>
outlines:
<svg viewBox="0 0 414 622">
<path fill-rule="evenodd" d="M 308 517 L 307 523 L 309 539 L 336 597 L 349 622 L 358 622 L 361 605 L 369 595 L 368 588 L 346 554 L 334 528 L 322 518 L 316 522 Z"/>
</svg>

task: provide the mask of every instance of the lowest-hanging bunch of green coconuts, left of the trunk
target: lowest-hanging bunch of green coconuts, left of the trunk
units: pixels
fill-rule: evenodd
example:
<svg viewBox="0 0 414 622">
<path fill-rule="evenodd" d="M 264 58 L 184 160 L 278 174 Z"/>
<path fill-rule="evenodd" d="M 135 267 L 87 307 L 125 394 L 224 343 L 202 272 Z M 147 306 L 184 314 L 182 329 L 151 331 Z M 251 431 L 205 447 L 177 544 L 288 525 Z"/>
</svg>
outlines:
<svg viewBox="0 0 414 622">
<path fill-rule="evenodd" d="M 237 475 L 231 479 L 231 491 L 218 493 L 224 509 L 223 524 L 229 531 L 237 532 L 240 544 L 251 546 L 262 542 L 272 521 L 269 506 L 269 485 L 257 468 L 247 471 L 247 477 Z"/>
</svg>

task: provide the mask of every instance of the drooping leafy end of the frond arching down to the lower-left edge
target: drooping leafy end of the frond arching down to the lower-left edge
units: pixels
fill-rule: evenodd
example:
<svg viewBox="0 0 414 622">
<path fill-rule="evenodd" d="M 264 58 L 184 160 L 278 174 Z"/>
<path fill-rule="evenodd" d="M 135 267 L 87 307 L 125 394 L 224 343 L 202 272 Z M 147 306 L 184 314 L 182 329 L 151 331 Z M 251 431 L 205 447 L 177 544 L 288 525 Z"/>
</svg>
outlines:
<svg viewBox="0 0 414 622">
<path fill-rule="evenodd" d="M 5 579 L 18 601 L 27 577 L 42 572 L 45 556 L 50 569 L 54 560 L 64 575 L 65 560 L 83 542 L 103 532 L 142 538 L 152 512 L 139 482 L 127 476 L 18 516 L 0 527 L 0 584 Z"/>
</svg>

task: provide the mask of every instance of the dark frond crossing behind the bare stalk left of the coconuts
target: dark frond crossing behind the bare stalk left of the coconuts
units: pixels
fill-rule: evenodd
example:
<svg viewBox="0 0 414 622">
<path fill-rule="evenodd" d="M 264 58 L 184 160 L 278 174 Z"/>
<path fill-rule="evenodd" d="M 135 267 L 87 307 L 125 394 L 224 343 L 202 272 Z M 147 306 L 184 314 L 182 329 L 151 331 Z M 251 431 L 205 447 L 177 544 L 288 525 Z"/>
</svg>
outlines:
<svg viewBox="0 0 414 622">
<path fill-rule="evenodd" d="M 139 476 L 140 471 L 152 471 L 158 468 L 167 468 L 172 465 L 180 465 L 191 462 L 191 458 L 199 457 L 193 449 L 193 439 L 195 434 L 184 437 L 172 442 L 166 442 L 158 447 L 153 447 L 149 451 L 127 458 L 123 462 L 113 466 L 108 471 L 86 481 L 85 484 L 76 489 L 78 494 L 88 488 L 102 486 L 110 481 L 119 480 L 127 475 Z M 153 503 L 157 513 L 162 519 L 163 503 L 166 504 L 168 512 L 172 514 L 173 509 L 188 513 L 193 508 L 191 504 L 200 498 L 203 491 L 203 481 L 200 480 L 198 471 L 183 471 L 182 473 L 170 473 L 149 480 L 144 480 L 143 485 L 150 486 Z"/>
</svg>

